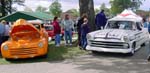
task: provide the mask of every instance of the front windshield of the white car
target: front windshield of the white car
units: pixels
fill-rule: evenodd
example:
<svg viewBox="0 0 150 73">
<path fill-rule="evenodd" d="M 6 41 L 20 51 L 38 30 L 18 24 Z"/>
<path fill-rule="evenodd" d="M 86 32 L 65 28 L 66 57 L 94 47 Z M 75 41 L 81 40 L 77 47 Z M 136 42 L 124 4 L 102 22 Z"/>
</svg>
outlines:
<svg viewBox="0 0 150 73">
<path fill-rule="evenodd" d="M 131 21 L 109 21 L 106 29 L 125 29 L 132 30 L 133 22 Z"/>
</svg>

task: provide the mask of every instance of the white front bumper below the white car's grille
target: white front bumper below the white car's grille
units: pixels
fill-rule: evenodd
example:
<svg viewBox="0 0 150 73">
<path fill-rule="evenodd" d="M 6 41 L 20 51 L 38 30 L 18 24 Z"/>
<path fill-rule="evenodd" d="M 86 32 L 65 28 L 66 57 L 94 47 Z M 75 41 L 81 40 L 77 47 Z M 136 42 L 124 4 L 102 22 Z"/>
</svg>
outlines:
<svg viewBox="0 0 150 73">
<path fill-rule="evenodd" d="M 132 51 L 131 48 L 127 48 L 127 49 L 102 48 L 102 47 L 93 47 L 93 46 L 90 46 L 90 45 L 87 45 L 86 50 L 99 51 L 99 52 L 112 52 L 112 53 L 130 53 Z"/>
</svg>

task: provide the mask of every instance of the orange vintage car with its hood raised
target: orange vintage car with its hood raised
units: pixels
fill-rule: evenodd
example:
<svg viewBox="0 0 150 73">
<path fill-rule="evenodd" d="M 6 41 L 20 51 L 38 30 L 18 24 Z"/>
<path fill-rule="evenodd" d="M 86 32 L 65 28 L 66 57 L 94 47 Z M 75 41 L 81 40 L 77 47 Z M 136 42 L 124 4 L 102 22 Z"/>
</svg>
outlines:
<svg viewBox="0 0 150 73">
<path fill-rule="evenodd" d="M 1 45 L 6 59 L 33 58 L 48 52 L 48 34 L 40 24 L 17 20 L 10 31 L 10 40 Z"/>
</svg>

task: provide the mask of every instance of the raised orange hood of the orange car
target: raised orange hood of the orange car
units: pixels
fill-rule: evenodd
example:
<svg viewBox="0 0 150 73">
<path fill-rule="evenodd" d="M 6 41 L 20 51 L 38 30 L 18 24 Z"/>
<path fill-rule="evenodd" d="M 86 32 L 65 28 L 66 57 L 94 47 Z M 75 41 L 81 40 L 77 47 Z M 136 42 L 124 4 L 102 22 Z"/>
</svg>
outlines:
<svg viewBox="0 0 150 73">
<path fill-rule="evenodd" d="M 11 38 L 14 40 L 32 40 L 40 38 L 40 32 L 32 24 L 25 20 L 18 20 L 13 25 L 11 32 Z"/>
</svg>

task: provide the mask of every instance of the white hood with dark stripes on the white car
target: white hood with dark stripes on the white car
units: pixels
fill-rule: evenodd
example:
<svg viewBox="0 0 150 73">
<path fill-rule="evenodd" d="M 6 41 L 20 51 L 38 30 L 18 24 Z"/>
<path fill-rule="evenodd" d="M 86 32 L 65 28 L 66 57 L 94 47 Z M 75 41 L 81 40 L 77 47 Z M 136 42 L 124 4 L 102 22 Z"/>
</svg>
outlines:
<svg viewBox="0 0 150 73">
<path fill-rule="evenodd" d="M 129 34 L 133 34 L 133 31 L 122 29 L 104 29 L 91 33 L 91 35 L 93 35 L 94 38 L 105 39 L 121 39 L 123 36 L 129 36 Z"/>
</svg>

